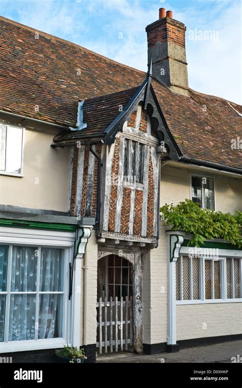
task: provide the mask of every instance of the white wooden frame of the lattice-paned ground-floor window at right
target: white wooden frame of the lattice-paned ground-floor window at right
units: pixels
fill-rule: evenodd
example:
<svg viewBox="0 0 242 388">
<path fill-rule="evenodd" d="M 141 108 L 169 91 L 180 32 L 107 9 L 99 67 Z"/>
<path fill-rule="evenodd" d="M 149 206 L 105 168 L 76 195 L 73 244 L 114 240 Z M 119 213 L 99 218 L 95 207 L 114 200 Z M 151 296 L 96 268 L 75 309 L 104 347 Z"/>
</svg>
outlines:
<svg viewBox="0 0 242 388">
<path fill-rule="evenodd" d="M 183 247 L 181 249 L 182 252 L 180 252 L 179 259 L 182 258 L 182 256 L 188 256 L 188 249 L 187 247 Z M 183 299 L 183 293 L 182 293 L 182 286 L 183 286 L 183 279 L 181 277 L 181 264 L 180 264 L 180 300 L 176 300 L 176 305 L 180 304 L 206 304 L 206 303 L 241 303 L 242 302 L 242 254 L 240 252 L 240 256 L 238 255 L 228 255 L 227 252 L 224 252 L 225 255 L 221 254 L 217 258 L 212 257 L 201 257 L 199 258 L 199 289 L 200 289 L 200 299 L 190 299 L 190 300 L 184 300 Z M 237 258 L 239 259 L 239 276 L 240 276 L 240 298 L 227 298 L 227 271 L 226 271 L 226 259 L 232 259 Z M 192 257 L 189 257 L 190 268 Z M 213 260 L 213 261 L 221 261 L 221 299 L 205 299 L 206 290 L 205 290 L 205 260 Z M 181 260 L 182 261 L 182 260 Z M 192 270 L 191 270 L 192 271 Z M 191 295 L 191 287 L 192 287 L 192 272 L 190 272 L 190 295 Z"/>
</svg>

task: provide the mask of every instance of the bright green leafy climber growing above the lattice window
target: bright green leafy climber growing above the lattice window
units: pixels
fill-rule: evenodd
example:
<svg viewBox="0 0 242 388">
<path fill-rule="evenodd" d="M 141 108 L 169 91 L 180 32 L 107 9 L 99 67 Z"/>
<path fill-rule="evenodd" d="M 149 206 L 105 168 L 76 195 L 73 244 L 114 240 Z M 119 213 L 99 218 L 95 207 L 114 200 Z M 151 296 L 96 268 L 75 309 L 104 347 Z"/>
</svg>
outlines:
<svg viewBox="0 0 242 388">
<path fill-rule="evenodd" d="M 165 204 L 160 208 L 161 218 L 166 225 L 172 225 L 172 230 L 183 230 L 192 234 L 189 244 L 197 247 L 207 239 L 223 238 L 234 245 L 241 247 L 242 212 L 235 215 L 201 209 L 191 200 L 180 202 L 177 206 Z"/>
</svg>

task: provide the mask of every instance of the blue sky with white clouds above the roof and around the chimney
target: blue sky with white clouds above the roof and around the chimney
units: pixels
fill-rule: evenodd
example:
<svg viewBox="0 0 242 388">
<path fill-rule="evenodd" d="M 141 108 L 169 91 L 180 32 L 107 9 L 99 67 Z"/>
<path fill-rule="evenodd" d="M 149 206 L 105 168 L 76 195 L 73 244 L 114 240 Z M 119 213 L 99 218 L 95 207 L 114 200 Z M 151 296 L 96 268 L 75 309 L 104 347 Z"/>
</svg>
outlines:
<svg viewBox="0 0 242 388">
<path fill-rule="evenodd" d="M 241 104 L 240 0 L 0 0 L 2 16 L 144 71 L 161 7 L 186 25 L 189 87 Z"/>
</svg>

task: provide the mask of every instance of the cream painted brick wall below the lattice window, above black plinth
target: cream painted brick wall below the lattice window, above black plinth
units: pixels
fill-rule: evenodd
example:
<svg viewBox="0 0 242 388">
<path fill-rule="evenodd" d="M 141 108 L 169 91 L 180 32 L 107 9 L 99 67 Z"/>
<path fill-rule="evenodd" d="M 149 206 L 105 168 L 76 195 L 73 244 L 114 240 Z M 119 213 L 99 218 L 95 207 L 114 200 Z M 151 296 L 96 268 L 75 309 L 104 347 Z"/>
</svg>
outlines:
<svg viewBox="0 0 242 388">
<path fill-rule="evenodd" d="M 242 303 L 177 305 L 177 341 L 241 332 Z"/>
</svg>

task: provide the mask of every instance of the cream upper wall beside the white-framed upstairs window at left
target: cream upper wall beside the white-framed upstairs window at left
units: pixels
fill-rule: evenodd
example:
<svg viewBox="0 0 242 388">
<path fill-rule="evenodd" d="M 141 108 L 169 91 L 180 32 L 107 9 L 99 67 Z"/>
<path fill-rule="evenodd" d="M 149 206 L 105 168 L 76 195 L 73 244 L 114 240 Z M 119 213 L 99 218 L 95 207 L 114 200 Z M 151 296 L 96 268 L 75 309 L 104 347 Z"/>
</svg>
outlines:
<svg viewBox="0 0 242 388">
<path fill-rule="evenodd" d="M 68 211 L 69 148 L 51 148 L 58 130 L 40 130 L 25 130 L 24 177 L 0 175 L 0 203 Z"/>
</svg>

